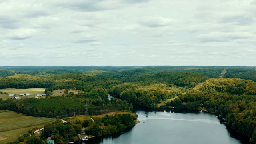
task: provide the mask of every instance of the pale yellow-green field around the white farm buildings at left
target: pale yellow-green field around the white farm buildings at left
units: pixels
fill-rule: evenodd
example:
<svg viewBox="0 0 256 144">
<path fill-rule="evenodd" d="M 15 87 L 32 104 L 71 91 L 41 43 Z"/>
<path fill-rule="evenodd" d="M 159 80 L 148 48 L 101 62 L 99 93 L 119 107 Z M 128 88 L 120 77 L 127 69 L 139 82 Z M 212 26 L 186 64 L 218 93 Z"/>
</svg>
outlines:
<svg viewBox="0 0 256 144">
<path fill-rule="evenodd" d="M 0 89 L 2 92 L 7 92 L 8 94 L 16 94 L 16 96 L 19 96 L 19 94 L 26 94 L 29 93 L 30 96 L 20 96 L 20 98 L 33 98 L 37 94 L 44 94 L 45 88 L 28 88 L 28 89 L 15 89 L 15 88 L 5 88 Z M 5 100 L 8 97 L 6 94 L 0 94 L 0 98 Z"/>
</svg>

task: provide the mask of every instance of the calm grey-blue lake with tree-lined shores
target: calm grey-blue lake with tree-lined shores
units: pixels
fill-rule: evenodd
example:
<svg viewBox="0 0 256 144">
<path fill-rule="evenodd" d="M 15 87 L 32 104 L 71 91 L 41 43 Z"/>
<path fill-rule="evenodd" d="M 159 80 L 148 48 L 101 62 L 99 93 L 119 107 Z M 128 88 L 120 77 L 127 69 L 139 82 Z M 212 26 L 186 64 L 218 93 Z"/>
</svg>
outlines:
<svg viewBox="0 0 256 144">
<path fill-rule="evenodd" d="M 146 123 L 80 144 L 249 144 L 247 137 L 225 129 L 213 114 L 174 111 L 138 110 L 138 120 Z"/>
</svg>

